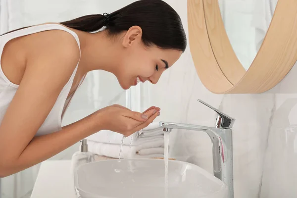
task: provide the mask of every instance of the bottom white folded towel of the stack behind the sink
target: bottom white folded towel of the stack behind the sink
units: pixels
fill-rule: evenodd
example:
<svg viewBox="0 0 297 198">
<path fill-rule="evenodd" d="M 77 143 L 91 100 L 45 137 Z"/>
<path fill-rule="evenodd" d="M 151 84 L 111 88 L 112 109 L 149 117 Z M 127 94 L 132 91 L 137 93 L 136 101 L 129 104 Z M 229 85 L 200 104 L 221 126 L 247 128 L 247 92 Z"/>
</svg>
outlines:
<svg viewBox="0 0 297 198">
<path fill-rule="evenodd" d="M 122 146 L 121 158 L 153 158 L 164 156 L 164 140 L 154 141 L 138 146 L 127 145 Z M 107 157 L 118 158 L 121 146 L 115 144 L 98 143 L 88 141 L 88 148 L 90 152 Z"/>
</svg>

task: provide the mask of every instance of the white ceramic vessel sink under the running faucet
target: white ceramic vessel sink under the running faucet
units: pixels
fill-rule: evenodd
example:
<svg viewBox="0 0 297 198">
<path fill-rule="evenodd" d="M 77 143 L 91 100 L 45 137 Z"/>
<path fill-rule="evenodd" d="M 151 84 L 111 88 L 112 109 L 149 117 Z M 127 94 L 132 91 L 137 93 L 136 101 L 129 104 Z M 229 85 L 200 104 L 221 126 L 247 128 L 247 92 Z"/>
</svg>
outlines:
<svg viewBox="0 0 297 198">
<path fill-rule="evenodd" d="M 80 198 L 164 198 L 164 160 L 121 159 L 79 166 Z M 197 165 L 169 160 L 168 198 L 226 198 L 226 185 Z"/>
</svg>

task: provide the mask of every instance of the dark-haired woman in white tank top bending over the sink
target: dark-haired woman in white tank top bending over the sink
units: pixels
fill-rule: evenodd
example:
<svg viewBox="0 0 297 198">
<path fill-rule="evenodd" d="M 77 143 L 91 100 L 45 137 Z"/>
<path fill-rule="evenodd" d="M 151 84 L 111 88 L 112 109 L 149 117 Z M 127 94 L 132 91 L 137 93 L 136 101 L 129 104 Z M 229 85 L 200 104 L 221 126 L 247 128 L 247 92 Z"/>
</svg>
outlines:
<svg viewBox="0 0 297 198">
<path fill-rule="evenodd" d="M 111 105 L 64 127 L 61 118 L 87 72 L 111 72 L 123 89 L 137 81 L 156 84 L 185 49 L 180 17 L 162 0 L 1 35 L 0 176 L 40 163 L 100 130 L 129 136 L 148 126 L 160 108 L 140 113 Z"/>
</svg>

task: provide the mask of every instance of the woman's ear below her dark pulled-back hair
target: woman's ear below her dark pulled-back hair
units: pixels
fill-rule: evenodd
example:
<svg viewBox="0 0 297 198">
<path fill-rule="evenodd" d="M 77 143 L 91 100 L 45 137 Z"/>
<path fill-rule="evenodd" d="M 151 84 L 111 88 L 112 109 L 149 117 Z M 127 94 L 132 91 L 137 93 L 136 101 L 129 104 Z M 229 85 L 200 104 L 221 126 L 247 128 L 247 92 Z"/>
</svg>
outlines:
<svg viewBox="0 0 297 198">
<path fill-rule="evenodd" d="M 132 26 L 126 32 L 122 45 L 125 48 L 132 46 L 134 43 L 141 42 L 142 29 L 139 26 Z"/>
</svg>

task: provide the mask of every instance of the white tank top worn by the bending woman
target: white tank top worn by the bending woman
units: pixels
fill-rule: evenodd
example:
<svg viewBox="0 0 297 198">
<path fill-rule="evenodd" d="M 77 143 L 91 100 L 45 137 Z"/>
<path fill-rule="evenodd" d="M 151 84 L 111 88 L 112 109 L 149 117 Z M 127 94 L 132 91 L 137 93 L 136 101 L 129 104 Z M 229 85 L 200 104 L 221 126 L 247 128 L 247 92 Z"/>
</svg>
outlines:
<svg viewBox="0 0 297 198">
<path fill-rule="evenodd" d="M 25 29 L 21 29 L 21 30 L 14 31 L 6 35 L 0 36 L 0 59 L 2 56 L 3 48 L 8 41 L 17 37 L 34 34 L 37 32 L 47 31 L 47 30 L 64 30 L 70 33 L 77 41 L 77 44 L 80 48 L 79 38 L 75 32 L 59 24 L 53 24 L 53 23 L 43 24 L 43 25 L 28 27 Z M 42 126 L 39 128 L 35 136 L 41 136 L 41 135 L 45 135 L 45 134 L 49 134 L 49 133 L 53 133 L 55 131 L 61 130 L 62 112 L 66 110 L 69 104 L 69 99 L 67 99 L 67 96 L 70 92 L 70 88 L 72 86 L 72 82 L 77 70 L 77 66 L 75 67 L 69 81 L 65 84 L 64 88 L 59 94 L 54 106 L 49 112 L 48 117 L 46 118 Z M 0 65 L 0 123 L 2 122 L 4 114 L 7 110 L 7 107 L 9 106 L 11 100 L 13 99 L 17 89 L 18 89 L 18 85 L 13 84 L 8 80 L 8 78 L 4 75 L 2 71 L 2 67 Z"/>
</svg>

